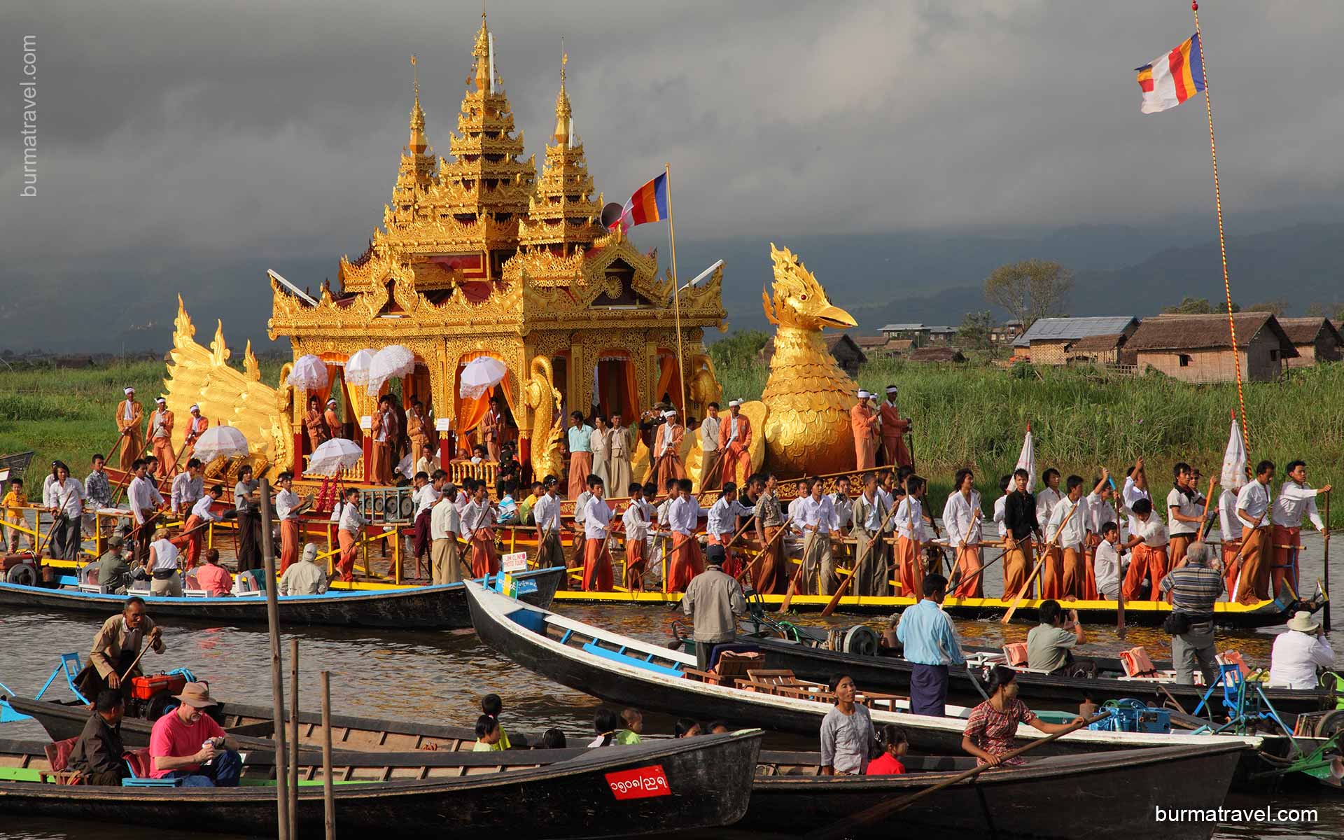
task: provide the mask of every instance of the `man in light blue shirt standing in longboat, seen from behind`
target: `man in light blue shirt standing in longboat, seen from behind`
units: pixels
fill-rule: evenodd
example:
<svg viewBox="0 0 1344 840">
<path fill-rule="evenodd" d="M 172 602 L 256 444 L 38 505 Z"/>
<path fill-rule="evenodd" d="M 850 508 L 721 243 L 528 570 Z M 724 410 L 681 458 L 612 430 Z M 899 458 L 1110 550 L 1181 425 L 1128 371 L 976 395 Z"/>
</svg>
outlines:
<svg viewBox="0 0 1344 840">
<path fill-rule="evenodd" d="M 910 671 L 910 711 L 942 718 L 948 704 L 948 665 L 964 664 L 952 618 L 942 612 L 948 578 L 939 574 L 923 579 L 923 601 L 900 614 L 896 638 L 905 645 Z"/>
</svg>

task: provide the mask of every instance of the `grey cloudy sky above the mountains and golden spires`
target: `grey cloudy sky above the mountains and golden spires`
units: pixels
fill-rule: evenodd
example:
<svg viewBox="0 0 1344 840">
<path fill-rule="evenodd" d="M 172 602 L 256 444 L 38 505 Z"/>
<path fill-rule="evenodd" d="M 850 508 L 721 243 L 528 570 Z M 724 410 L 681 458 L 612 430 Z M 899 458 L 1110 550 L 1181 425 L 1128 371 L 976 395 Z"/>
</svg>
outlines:
<svg viewBox="0 0 1344 840">
<path fill-rule="evenodd" d="M 4 254 L 356 254 L 406 142 L 407 55 L 446 155 L 478 19 L 441 0 L 7 3 L 0 79 L 38 36 L 40 180 L 16 198 L 5 83 Z M 551 130 L 563 35 L 598 190 L 624 200 L 671 161 L 685 237 L 1210 210 L 1203 101 L 1142 116 L 1132 71 L 1193 31 L 1180 0 L 493 0 L 489 22 L 527 153 Z M 1202 23 L 1224 202 L 1337 199 L 1344 4 L 1212 1 Z"/>
</svg>

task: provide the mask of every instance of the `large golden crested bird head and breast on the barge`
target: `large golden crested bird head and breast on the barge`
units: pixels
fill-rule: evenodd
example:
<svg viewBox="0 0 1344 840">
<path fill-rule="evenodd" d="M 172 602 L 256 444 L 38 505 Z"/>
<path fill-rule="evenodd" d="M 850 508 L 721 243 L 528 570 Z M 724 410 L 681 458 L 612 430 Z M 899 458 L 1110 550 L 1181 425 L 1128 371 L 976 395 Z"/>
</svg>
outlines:
<svg viewBox="0 0 1344 840">
<path fill-rule="evenodd" d="M 774 294 L 762 290 L 765 316 L 775 325 L 770 378 L 761 401 L 766 465 L 785 476 L 853 468 L 849 410 L 859 386 L 836 364 L 821 331 L 856 327 L 831 305 L 825 289 L 789 249 L 770 243 Z"/>
</svg>

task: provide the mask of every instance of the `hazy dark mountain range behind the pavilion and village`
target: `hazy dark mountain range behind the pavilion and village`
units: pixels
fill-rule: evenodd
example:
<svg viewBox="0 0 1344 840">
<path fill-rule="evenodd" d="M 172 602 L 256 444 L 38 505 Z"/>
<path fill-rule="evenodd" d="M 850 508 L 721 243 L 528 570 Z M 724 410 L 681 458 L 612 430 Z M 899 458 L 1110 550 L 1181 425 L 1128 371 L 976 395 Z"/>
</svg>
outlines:
<svg viewBox="0 0 1344 840">
<path fill-rule="evenodd" d="M 1339 218 L 1337 215 L 1333 218 Z M 1206 222 L 1206 220 L 1200 220 Z M 1243 226 L 1245 228 L 1245 226 Z M 894 233 L 806 235 L 775 243 L 798 254 L 827 288 L 831 301 L 859 321 L 857 333 L 883 324 L 922 321 L 956 325 L 966 312 L 986 309 L 981 282 L 996 266 L 1042 257 L 1075 274 L 1070 314 L 1154 314 L 1183 296 L 1222 298 L 1218 242 L 1176 226 L 1068 227 L 1048 233 Z M 641 247 L 657 247 L 667 262 L 664 233 L 636 231 Z M 1228 239 L 1232 297 L 1245 305 L 1286 298 L 1290 312 L 1313 302 L 1344 300 L 1337 262 L 1344 223 L 1301 223 L 1261 228 Z M 724 259 L 723 302 L 728 329 L 767 328 L 761 289 L 771 280 L 763 239 L 702 239 L 680 243 L 685 280 Z M 358 250 L 358 249 L 352 249 Z M 300 288 L 336 281 L 337 255 L 202 259 L 191 254 L 142 251 L 99 258 L 62 258 L 42 265 L 0 265 L 0 349 L 91 353 L 164 351 L 172 341 L 177 293 L 208 341 L 222 319 L 230 347 L 250 339 L 269 345 L 270 286 L 266 269 Z M 996 313 L 1003 316 L 1004 313 Z M 715 340 L 715 333 L 707 336 Z"/>
</svg>

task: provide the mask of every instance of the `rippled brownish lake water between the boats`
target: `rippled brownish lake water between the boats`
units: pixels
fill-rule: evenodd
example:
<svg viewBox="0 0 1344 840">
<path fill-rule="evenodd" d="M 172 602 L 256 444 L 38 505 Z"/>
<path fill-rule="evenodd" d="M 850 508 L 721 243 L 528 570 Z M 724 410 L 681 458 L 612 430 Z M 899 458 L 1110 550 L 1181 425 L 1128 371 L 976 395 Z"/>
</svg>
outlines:
<svg viewBox="0 0 1344 840">
<path fill-rule="evenodd" d="M 1305 536 L 1302 558 L 1304 590 L 1310 594 L 1314 581 L 1322 577 L 1321 540 Z M 1344 547 L 1340 548 L 1344 551 Z M 1336 555 L 1337 558 L 1339 555 Z M 997 570 L 997 567 L 996 567 Z M 1333 559 L 1331 574 L 1344 581 L 1344 562 Z M 989 594 L 997 595 L 1003 586 L 1001 574 L 986 575 Z M 1308 585 L 1306 582 L 1312 582 Z M 628 636 L 665 641 L 672 618 L 667 607 L 637 606 L 566 606 L 567 616 L 579 621 L 612 628 Z M 151 614 L 153 607 L 151 603 Z M 1341 614 L 1340 621 L 1344 621 Z M 836 614 L 821 620 L 816 614 L 802 614 L 798 621 L 847 626 L 866 622 L 882 624 L 880 618 Z M 0 634 L 4 656 L 0 657 L 0 681 L 12 689 L 32 695 L 56 664 L 62 652 L 78 650 L 87 657 L 89 642 L 102 618 L 73 613 L 32 613 L 0 607 Z M 997 621 L 960 621 L 958 632 L 968 644 L 1000 645 L 1005 641 L 1025 640 L 1030 625 L 1004 626 Z M 265 628 L 208 626 L 169 624 L 164 628 L 168 653 L 163 657 L 148 655 L 149 669 L 185 667 L 199 677 L 208 679 L 224 698 L 250 703 L 270 703 L 269 648 Z M 1153 659 L 1169 657 L 1169 640 L 1154 628 L 1130 628 L 1121 641 L 1113 625 L 1089 626 L 1089 644 L 1082 650 L 1094 655 L 1116 653 L 1142 644 Z M 445 724 L 469 726 L 480 714 L 481 695 L 497 692 L 504 698 L 503 720 L 519 731 L 540 731 L 559 727 L 571 741 L 590 738 L 593 711 L 598 700 L 582 692 L 556 685 L 511 661 L 476 640 L 470 630 L 462 632 L 384 632 L 356 629 L 298 629 L 284 633 L 288 640 L 300 640 L 300 704 L 312 711 L 320 708 L 321 669 L 332 672 L 332 708 L 336 712 L 359 714 L 374 718 L 401 718 Z M 1331 636 L 1336 650 L 1344 645 L 1344 632 Z M 1273 642 L 1271 630 L 1223 632 L 1219 648 L 1236 648 L 1253 664 L 1267 664 Z M 286 679 L 289 664 L 286 661 Z M 65 698 L 63 684 L 52 688 Z M 288 687 L 286 687 L 288 691 Z M 671 719 L 650 715 L 646 731 L 671 731 Z M 5 724 L 5 737 L 43 738 L 43 730 L 34 722 Z M 778 737 L 775 737 L 778 738 Z M 816 749 L 805 739 L 797 739 L 800 749 Z M 1289 824 L 1220 824 L 1215 837 L 1335 837 L 1344 840 L 1344 798 L 1335 797 L 1247 797 L 1234 796 L 1228 808 L 1316 809 L 1312 821 Z M 339 820 L 339 813 L 337 813 Z M 337 823 L 339 825 L 339 823 Z M 750 825 L 738 825 L 750 832 Z M 1079 836 L 1086 825 L 1079 827 Z M 145 836 L 145 829 L 114 825 L 91 825 L 78 821 L 23 820 L 0 817 L 0 837 L 24 840 L 63 840 L 97 836 L 106 840 L 132 840 Z M 156 839 L 204 839 L 215 835 L 202 832 L 173 832 L 169 827 L 155 829 Z"/>
</svg>

